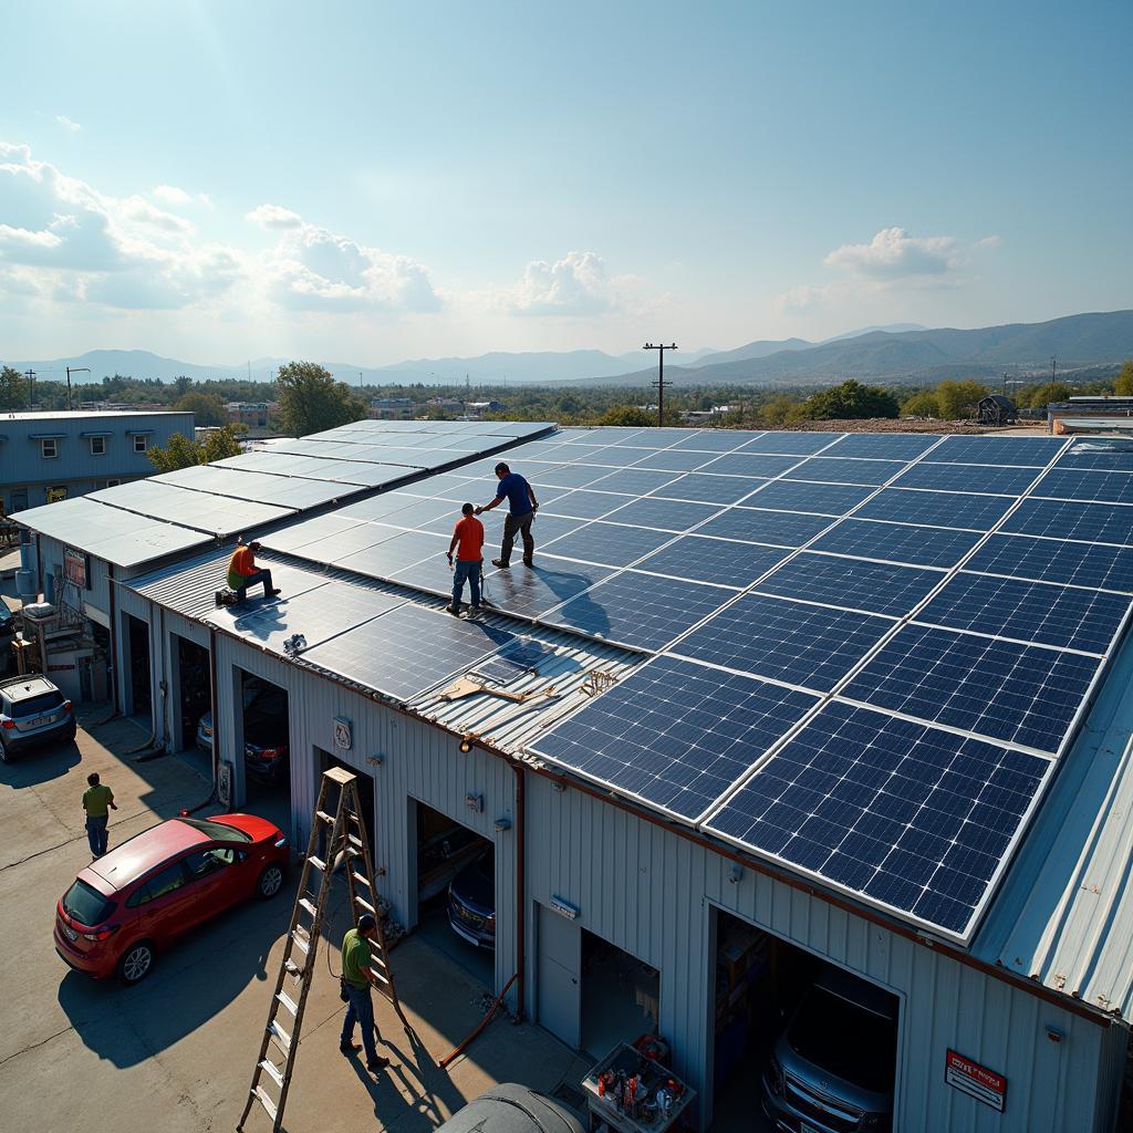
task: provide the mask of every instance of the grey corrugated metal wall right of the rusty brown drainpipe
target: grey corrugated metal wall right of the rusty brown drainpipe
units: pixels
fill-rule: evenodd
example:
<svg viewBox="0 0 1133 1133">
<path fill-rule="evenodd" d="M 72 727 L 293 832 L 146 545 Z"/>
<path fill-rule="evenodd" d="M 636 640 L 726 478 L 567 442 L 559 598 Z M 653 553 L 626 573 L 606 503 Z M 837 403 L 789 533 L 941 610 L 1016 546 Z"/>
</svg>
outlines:
<svg viewBox="0 0 1133 1133">
<path fill-rule="evenodd" d="M 901 996 L 895 1130 L 1108 1128 L 1109 1098 L 1098 1096 L 1106 1085 L 1111 1097 L 1111 1081 L 1099 1077 L 1105 1028 L 772 878 L 744 870 L 733 883 L 726 859 L 539 776 L 529 781 L 527 820 L 538 832 L 528 840 L 529 898 L 565 898 L 581 910 L 583 928 L 659 969 L 661 1031 L 674 1043 L 674 1068 L 701 1091 L 702 1118 L 706 1083 L 712 1093 L 715 905 Z M 534 997 L 528 1007 L 537 1015 Z M 1053 1042 L 1047 1026 L 1063 1040 Z M 1006 1075 L 1004 1114 L 945 1083 L 949 1047 Z"/>
</svg>

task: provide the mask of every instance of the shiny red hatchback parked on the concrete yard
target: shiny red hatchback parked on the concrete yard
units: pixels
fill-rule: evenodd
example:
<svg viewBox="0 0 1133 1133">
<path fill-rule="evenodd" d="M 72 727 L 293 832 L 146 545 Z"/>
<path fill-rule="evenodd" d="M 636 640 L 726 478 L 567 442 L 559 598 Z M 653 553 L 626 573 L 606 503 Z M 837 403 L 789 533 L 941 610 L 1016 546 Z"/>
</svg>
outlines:
<svg viewBox="0 0 1133 1133">
<path fill-rule="evenodd" d="M 254 815 L 169 818 L 92 862 L 59 898 L 56 952 L 95 979 L 137 983 L 174 937 L 283 887 L 283 832 Z"/>
</svg>

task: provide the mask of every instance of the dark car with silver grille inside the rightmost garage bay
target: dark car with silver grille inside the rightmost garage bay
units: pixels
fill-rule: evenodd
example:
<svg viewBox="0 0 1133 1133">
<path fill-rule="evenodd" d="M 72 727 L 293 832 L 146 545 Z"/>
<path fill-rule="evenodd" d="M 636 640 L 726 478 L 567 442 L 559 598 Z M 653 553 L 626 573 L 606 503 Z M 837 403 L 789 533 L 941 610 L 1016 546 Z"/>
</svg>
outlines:
<svg viewBox="0 0 1133 1133">
<path fill-rule="evenodd" d="M 889 1130 L 896 1010 L 896 999 L 881 988 L 825 968 L 764 1070 L 764 1113 L 775 1127 L 792 1133 Z"/>
</svg>

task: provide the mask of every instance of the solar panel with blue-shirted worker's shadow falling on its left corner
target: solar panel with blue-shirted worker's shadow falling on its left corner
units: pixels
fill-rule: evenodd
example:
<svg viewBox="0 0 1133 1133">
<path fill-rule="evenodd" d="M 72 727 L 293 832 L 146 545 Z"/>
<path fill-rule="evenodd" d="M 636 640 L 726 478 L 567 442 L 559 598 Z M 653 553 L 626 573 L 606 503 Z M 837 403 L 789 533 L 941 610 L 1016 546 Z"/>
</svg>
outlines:
<svg viewBox="0 0 1133 1133">
<path fill-rule="evenodd" d="M 615 574 L 546 615 L 556 625 L 638 649 L 662 649 L 734 590 L 659 574 Z"/>
</svg>

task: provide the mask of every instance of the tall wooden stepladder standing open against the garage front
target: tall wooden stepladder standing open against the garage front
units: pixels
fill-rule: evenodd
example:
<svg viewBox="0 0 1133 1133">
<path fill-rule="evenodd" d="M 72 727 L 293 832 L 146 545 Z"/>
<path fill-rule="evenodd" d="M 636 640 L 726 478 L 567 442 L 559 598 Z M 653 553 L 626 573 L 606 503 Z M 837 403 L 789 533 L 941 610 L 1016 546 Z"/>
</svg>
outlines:
<svg viewBox="0 0 1133 1133">
<path fill-rule="evenodd" d="M 331 800 L 335 796 L 332 812 Z M 237 1130 L 244 1128 L 244 1123 L 256 1102 L 272 1119 L 272 1133 L 279 1133 L 283 1122 L 283 1106 L 287 1104 L 291 1075 L 295 1073 L 295 1060 L 299 1053 L 299 1030 L 303 1026 L 303 1013 L 307 1006 L 307 994 L 310 991 L 315 971 L 315 953 L 318 951 L 323 915 L 330 900 L 332 875 L 340 858 L 346 867 L 347 888 L 350 895 L 350 922 L 357 925 L 363 913 L 369 913 L 377 921 L 377 934 L 370 942 L 370 970 L 377 979 L 378 991 L 393 1004 L 402 1025 L 409 1030 L 409 1022 L 401 1011 L 398 993 L 393 986 L 393 971 L 385 947 L 382 915 L 377 910 L 377 891 L 374 887 L 369 843 L 359 811 L 357 776 L 340 767 L 324 772 L 310 824 L 307 854 L 303 862 L 303 877 L 283 948 L 283 963 L 280 965 L 275 991 L 267 1011 L 267 1025 L 259 1045 L 256 1068 L 252 1072 L 248 1100 L 237 1123 Z M 321 850 L 322 857 L 320 857 Z M 320 876 L 317 892 L 313 892 L 310 886 L 313 872 Z M 288 980 L 291 981 L 291 986 L 284 989 Z M 298 988 L 297 995 L 296 988 Z M 281 1016 L 287 1026 L 281 1024 Z M 269 1082 L 276 1090 L 274 1098 L 269 1092 Z"/>
</svg>

